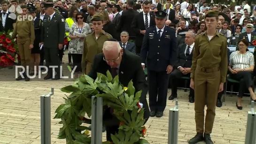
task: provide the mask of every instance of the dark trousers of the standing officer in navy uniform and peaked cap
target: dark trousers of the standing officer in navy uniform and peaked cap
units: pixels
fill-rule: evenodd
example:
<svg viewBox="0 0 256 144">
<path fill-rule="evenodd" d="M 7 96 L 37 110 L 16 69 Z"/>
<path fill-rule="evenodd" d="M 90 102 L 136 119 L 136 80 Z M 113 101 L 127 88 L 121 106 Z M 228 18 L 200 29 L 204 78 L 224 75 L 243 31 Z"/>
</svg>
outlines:
<svg viewBox="0 0 256 144">
<path fill-rule="evenodd" d="M 163 112 L 166 106 L 169 75 L 166 71 L 147 70 L 150 111 Z M 158 97 L 157 97 L 158 96 Z"/>
</svg>

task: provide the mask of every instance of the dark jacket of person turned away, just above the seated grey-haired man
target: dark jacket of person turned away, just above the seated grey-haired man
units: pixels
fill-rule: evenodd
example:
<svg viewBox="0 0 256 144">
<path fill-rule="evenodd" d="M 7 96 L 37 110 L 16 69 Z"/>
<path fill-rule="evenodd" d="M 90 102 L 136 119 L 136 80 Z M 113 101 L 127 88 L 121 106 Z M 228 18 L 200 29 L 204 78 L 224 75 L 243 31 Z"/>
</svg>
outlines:
<svg viewBox="0 0 256 144">
<path fill-rule="evenodd" d="M 132 30 L 131 25 L 132 25 L 132 21 L 135 17 L 136 14 L 138 14 L 139 12 L 137 12 L 136 10 L 129 8 L 125 11 L 122 12 L 121 15 L 121 21 L 120 21 L 120 27 L 119 29 L 121 29 L 121 31 L 127 31 L 129 33 L 130 38 L 135 38 L 136 34 L 135 32 Z"/>
</svg>

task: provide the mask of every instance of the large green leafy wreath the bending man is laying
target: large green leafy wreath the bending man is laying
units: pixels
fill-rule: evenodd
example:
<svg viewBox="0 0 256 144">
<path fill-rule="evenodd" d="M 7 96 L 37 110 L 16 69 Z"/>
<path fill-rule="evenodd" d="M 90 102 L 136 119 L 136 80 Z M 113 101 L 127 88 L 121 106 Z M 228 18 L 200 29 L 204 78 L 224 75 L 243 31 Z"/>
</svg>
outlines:
<svg viewBox="0 0 256 144">
<path fill-rule="evenodd" d="M 63 98 L 65 104 L 56 109 L 54 119 L 62 120 L 59 122 L 63 127 L 60 128 L 58 138 L 66 139 L 67 144 L 91 144 L 88 127 L 81 126 L 84 121 L 80 117 L 85 114 L 91 117 L 93 96 L 103 98 L 103 105 L 113 108 L 113 114 L 121 121 L 118 133 L 111 135 L 114 144 L 149 144 L 141 138 L 146 134 L 143 126 L 144 108 L 141 108 L 139 101 L 141 91 L 135 94 L 132 81 L 124 87 L 119 83 L 118 76 L 113 79 L 107 71 L 107 76 L 97 73 L 95 81 L 87 75 L 81 76 L 74 84 L 63 87 L 61 91 L 71 94 Z M 85 132 L 82 134 L 82 131 Z"/>
</svg>

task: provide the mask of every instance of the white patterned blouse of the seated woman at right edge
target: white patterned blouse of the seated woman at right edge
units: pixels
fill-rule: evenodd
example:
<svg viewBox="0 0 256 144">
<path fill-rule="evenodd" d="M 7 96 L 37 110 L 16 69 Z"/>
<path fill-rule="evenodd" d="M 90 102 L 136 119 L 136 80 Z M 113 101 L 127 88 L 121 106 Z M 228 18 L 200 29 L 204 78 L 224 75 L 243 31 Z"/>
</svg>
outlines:
<svg viewBox="0 0 256 144">
<path fill-rule="evenodd" d="M 229 65 L 232 66 L 232 69 L 250 68 L 250 66 L 254 66 L 254 56 L 249 51 L 244 54 L 240 54 L 239 51 L 235 51 L 230 54 Z"/>
</svg>

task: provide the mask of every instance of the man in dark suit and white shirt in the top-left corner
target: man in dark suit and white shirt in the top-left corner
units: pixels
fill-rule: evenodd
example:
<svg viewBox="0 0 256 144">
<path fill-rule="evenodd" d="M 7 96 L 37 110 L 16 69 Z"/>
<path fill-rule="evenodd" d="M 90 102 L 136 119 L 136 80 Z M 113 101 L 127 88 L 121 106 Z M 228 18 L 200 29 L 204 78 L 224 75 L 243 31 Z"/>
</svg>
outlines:
<svg viewBox="0 0 256 144">
<path fill-rule="evenodd" d="M 1 2 L 1 5 L 2 11 L 0 12 L 0 31 L 8 32 L 8 30 L 13 30 L 13 25 L 16 22 L 16 20 L 13 20 L 10 17 L 8 17 L 8 1 L 3 0 Z"/>
</svg>

